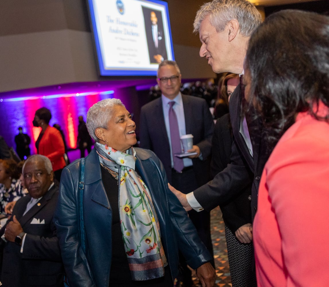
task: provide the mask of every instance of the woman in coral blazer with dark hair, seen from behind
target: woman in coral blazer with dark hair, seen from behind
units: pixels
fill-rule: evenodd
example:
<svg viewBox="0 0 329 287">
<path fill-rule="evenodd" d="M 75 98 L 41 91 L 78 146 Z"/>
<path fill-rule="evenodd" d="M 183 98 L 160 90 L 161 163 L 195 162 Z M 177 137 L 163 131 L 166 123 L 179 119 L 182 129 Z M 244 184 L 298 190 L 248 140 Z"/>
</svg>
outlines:
<svg viewBox="0 0 329 287">
<path fill-rule="evenodd" d="M 274 147 L 253 223 L 259 287 L 329 286 L 328 31 L 326 16 L 283 10 L 249 41 L 246 99 Z"/>
</svg>

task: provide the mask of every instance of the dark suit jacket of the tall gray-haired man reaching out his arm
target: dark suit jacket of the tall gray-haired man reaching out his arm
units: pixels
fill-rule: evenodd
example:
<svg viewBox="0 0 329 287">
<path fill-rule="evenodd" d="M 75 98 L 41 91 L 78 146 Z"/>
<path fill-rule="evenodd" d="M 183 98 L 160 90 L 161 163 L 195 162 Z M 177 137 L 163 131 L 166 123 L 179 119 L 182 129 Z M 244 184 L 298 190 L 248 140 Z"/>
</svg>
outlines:
<svg viewBox="0 0 329 287">
<path fill-rule="evenodd" d="M 262 140 L 262 123 L 254 120 L 248 130 L 253 146 L 253 157 L 240 134 L 241 123 L 241 92 L 240 85 L 230 99 L 230 118 L 233 131 L 232 152 L 230 164 L 219 172 L 212 181 L 194 191 L 194 196 L 206 210 L 212 210 L 218 204 L 236 195 L 241 189 L 252 182 L 251 216 L 255 217 L 257 210 L 258 187 L 264 165 L 268 159 L 266 146 Z M 252 175 L 252 177 L 250 177 Z"/>
</svg>

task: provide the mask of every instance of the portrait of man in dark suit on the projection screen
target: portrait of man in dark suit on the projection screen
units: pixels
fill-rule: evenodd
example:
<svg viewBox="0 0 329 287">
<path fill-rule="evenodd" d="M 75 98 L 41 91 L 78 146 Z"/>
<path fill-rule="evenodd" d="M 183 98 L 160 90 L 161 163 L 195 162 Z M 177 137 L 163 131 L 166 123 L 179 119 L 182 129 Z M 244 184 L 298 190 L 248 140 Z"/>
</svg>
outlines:
<svg viewBox="0 0 329 287">
<path fill-rule="evenodd" d="M 158 10 L 142 9 L 150 63 L 160 64 L 167 59 L 162 14 Z"/>
</svg>

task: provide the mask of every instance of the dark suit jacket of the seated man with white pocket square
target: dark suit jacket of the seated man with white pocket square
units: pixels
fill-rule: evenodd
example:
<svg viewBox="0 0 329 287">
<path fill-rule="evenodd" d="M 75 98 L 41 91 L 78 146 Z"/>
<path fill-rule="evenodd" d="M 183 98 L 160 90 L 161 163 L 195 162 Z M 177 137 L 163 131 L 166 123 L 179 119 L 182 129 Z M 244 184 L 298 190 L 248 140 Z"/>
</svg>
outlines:
<svg viewBox="0 0 329 287">
<path fill-rule="evenodd" d="M 4 247 L 1 274 L 4 286 L 63 286 L 64 268 L 53 223 L 57 199 L 58 186 L 54 185 L 24 216 L 31 196 L 24 196 L 15 204 L 13 216 L 16 215 L 27 234 L 23 253 L 19 245 L 10 241 Z M 6 225 L 1 235 L 5 228 Z"/>
</svg>

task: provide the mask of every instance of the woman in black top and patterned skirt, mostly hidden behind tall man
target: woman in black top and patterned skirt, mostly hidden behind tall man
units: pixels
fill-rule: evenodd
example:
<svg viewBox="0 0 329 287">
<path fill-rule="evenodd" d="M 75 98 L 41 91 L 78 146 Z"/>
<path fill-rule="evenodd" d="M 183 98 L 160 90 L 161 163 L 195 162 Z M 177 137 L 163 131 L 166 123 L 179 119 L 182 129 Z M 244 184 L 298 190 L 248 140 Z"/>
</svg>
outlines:
<svg viewBox="0 0 329 287">
<path fill-rule="evenodd" d="M 228 113 L 230 95 L 239 84 L 239 75 L 225 73 L 219 83 L 217 119 L 213 135 L 211 176 L 224 170 L 231 163 L 232 126 Z M 219 112 L 220 111 L 220 112 Z M 224 114 L 225 113 L 225 114 Z M 224 114 L 224 115 L 223 115 Z M 251 181 L 251 180 L 250 180 Z M 256 273 L 253 263 L 251 224 L 251 183 L 227 202 L 219 204 L 225 223 L 225 238 L 233 287 L 255 287 Z"/>
</svg>

